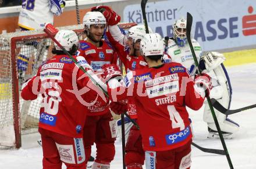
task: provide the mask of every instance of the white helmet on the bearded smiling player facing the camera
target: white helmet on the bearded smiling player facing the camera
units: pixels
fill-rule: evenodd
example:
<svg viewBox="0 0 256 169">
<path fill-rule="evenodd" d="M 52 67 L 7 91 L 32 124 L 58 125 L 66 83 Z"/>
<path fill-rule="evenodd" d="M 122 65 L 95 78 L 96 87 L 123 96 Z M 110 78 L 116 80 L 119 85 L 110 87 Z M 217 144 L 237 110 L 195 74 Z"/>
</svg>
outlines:
<svg viewBox="0 0 256 169">
<path fill-rule="evenodd" d="M 90 29 L 93 24 L 106 24 L 106 19 L 101 12 L 87 12 L 83 18 L 84 29 Z"/>
</svg>

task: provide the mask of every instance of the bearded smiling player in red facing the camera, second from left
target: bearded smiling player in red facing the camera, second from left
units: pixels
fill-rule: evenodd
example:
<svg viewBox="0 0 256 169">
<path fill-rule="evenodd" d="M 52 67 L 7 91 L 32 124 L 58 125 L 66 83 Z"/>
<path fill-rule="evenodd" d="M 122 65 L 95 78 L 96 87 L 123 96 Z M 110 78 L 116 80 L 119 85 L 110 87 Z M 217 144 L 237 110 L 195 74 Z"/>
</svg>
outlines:
<svg viewBox="0 0 256 169">
<path fill-rule="evenodd" d="M 101 12 L 87 12 L 83 17 L 84 31 L 87 37 L 80 41 L 77 56 L 83 56 L 95 73 L 102 73 L 102 65 L 115 63 L 116 53 L 103 39 L 106 19 Z M 96 144 L 97 155 L 93 168 L 109 168 L 115 156 L 116 129 L 115 121 L 108 103 L 97 98 L 91 100 L 94 105 L 88 106 L 88 115 L 84 127 L 84 147 L 86 161 L 91 154 L 91 146 Z"/>
</svg>

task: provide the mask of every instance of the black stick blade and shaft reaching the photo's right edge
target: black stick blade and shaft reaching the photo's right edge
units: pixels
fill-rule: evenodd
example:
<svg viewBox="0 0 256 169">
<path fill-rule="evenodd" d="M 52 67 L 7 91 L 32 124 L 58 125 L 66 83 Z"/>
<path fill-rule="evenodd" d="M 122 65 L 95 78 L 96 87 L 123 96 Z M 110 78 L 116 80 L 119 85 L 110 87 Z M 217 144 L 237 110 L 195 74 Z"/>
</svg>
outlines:
<svg viewBox="0 0 256 169">
<path fill-rule="evenodd" d="M 216 99 L 211 99 L 212 102 L 212 106 L 214 106 L 214 108 L 216 110 L 218 110 L 219 112 L 221 112 L 222 114 L 226 114 L 226 115 L 230 115 L 230 114 L 234 114 L 234 113 L 239 113 L 242 112 L 244 110 L 248 110 L 248 109 L 253 109 L 256 107 L 256 104 L 254 105 L 250 105 L 250 106 L 246 106 L 246 107 L 242 107 L 240 109 L 234 109 L 234 110 L 228 110 L 225 107 L 223 107 L 221 105 L 221 103 L 219 103 Z"/>
</svg>

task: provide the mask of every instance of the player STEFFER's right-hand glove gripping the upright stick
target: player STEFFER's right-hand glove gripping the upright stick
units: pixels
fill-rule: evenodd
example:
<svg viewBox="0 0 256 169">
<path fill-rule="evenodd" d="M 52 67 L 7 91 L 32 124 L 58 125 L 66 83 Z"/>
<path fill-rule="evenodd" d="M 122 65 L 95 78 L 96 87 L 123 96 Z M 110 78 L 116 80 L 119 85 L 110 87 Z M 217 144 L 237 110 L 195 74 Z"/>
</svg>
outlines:
<svg viewBox="0 0 256 169">
<path fill-rule="evenodd" d="M 195 75 L 195 91 L 197 91 L 202 98 L 208 97 L 212 89 L 211 77 L 208 74 Z"/>
</svg>

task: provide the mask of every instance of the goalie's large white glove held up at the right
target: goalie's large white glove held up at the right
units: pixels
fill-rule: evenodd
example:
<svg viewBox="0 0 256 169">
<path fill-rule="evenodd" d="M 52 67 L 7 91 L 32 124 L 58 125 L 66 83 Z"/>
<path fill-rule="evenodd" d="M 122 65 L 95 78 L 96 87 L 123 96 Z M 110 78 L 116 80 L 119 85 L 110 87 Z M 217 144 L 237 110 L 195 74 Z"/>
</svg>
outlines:
<svg viewBox="0 0 256 169">
<path fill-rule="evenodd" d="M 204 60 L 205 68 L 208 71 L 214 70 L 226 60 L 225 56 L 219 52 L 207 52 L 201 59 Z"/>
</svg>

